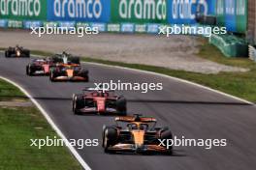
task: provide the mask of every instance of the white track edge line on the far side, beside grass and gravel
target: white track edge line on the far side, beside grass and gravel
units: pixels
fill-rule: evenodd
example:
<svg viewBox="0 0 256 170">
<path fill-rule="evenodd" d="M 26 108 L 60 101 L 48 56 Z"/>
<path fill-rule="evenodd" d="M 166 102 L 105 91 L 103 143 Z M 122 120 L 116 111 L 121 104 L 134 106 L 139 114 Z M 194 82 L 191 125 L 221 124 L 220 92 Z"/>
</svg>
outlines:
<svg viewBox="0 0 256 170">
<path fill-rule="evenodd" d="M 173 80 L 182 82 L 182 83 L 186 83 L 186 84 L 189 84 L 189 85 L 193 85 L 193 86 L 196 86 L 196 87 L 198 87 L 198 88 L 202 88 L 202 89 L 205 89 L 205 90 L 208 90 L 208 91 L 210 91 L 210 92 L 214 92 L 214 93 L 220 94 L 220 95 L 222 95 L 222 96 L 225 96 L 225 97 L 228 97 L 228 98 L 231 98 L 231 99 L 237 99 L 237 100 L 240 100 L 241 102 L 245 102 L 245 103 L 250 104 L 250 105 L 255 105 L 255 103 L 253 103 L 253 102 L 251 102 L 251 101 L 248 101 L 248 100 L 245 100 L 245 99 L 240 99 L 240 98 L 238 98 L 238 97 L 235 97 L 235 96 L 226 94 L 226 93 L 224 93 L 224 92 L 220 92 L 220 91 L 218 91 L 218 90 L 211 89 L 211 88 L 209 88 L 209 87 L 207 87 L 207 86 L 204 86 L 204 85 L 201 85 L 201 84 L 197 84 L 197 83 L 194 83 L 194 82 L 191 82 L 191 81 L 188 81 L 188 80 L 184 80 L 184 79 L 181 79 L 181 78 L 176 78 L 176 77 L 171 76 L 171 75 L 166 75 L 166 74 L 157 73 L 157 72 L 153 72 L 153 71 L 142 71 L 142 70 L 137 70 L 137 69 L 131 69 L 131 68 L 125 68 L 125 67 L 119 67 L 119 66 L 112 66 L 112 65 L 100 64 L 100 63 L 94 63 L 94 62 L 82 62 L 82 63 L 84 63 L 84 64 L 98 65 L 98 66 L 104 66 L 104 67 L 109 67 L 109 68 L 122 69 L 122 70 L 128 70 L 128 71 L 139 71 L 139 72 L 144 72 L 144 73 L 147 73 L 147 74 L 162 76 L 162 77 L 170 78 L 170 79 L 173 79 Z"/>
</svg>

